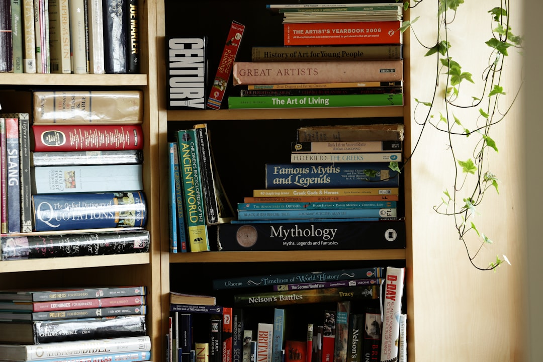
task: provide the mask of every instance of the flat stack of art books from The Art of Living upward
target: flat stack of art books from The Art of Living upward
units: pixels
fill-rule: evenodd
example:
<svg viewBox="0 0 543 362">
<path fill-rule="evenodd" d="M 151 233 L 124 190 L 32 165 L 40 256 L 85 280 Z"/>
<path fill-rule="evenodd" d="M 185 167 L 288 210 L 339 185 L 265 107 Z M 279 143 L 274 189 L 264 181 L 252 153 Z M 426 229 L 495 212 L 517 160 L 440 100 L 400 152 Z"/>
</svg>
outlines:
<svg viewBox="0 0 543 362">
<path fill-rule="evenodd" d="M 268 5 L 282 46 L 236 61 L 230 109 L 403 105 L 401 3 Z"/>
</svg>

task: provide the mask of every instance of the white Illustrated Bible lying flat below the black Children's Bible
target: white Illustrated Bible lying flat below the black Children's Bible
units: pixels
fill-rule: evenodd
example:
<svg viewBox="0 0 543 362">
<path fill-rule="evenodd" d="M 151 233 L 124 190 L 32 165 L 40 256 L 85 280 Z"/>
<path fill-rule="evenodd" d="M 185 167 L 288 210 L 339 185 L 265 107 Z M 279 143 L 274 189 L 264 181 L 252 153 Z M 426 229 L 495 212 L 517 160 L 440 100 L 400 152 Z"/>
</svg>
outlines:
<svg viewBox="0 0 543 362">
<path fill-rule="evenodd" d="M 58 358 L 68 355 L 73 358 L 85 357 L 91 349 L 109 353 L 146 352 L 151 350 L 149 336 L 115 337 L 100 340 L 81 340 L 72 342 L 54 342 L 43 345 L 1 344 L 0 355 L 6 360 L 34 361 Z"/>
</svg>

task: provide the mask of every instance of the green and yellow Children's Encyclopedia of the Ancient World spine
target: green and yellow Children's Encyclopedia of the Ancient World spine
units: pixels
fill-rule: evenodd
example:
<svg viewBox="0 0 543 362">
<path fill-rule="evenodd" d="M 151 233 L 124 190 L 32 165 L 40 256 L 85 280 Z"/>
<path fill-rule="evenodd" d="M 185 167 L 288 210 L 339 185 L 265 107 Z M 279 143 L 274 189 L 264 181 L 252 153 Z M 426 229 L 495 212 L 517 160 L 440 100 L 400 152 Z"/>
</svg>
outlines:
<svg viewBox="0 0 543 362">
<path fill-rule="evenodd" d="M 189 249 L 191 252 L 209 251 L 195 132 L 192 129 L 178 131 L 177 139 L 185 196 L 185 221 L 188 229 Z"/>
</svg>

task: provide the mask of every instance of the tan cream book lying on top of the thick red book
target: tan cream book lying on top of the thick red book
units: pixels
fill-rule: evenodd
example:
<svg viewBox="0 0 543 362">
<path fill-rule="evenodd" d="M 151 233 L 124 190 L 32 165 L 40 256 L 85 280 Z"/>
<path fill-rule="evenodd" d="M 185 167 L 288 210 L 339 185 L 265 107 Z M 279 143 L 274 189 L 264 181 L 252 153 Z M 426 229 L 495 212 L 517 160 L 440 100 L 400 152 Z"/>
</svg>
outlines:
<svg viewBox="0 0 543 362">
<path fill-rule="evenodd" d="M 34 92 L 34 124 L 141 124 L 142 121 L 142 91 Z"/>
</svg>

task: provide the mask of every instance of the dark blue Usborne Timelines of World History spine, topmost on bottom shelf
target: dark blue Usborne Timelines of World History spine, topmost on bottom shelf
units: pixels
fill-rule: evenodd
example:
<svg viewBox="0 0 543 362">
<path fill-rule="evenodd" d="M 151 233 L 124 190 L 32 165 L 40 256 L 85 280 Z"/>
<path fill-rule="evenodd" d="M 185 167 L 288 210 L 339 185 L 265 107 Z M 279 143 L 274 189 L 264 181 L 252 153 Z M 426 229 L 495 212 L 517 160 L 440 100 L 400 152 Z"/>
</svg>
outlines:
<svg viewBox="0 0 543 362">
<path fill-rule="evenodd" d="M 318 272 L 294 272 L 275 275 L 258 275 L 237 278 L 214 279 L 213 289 L 232 289 L 247 287 L 264 287 L 270 285 L 309 282 L 332 282 L 344 280 L 357 280 L 360 278 L 381 278 L 384 276 L 384 268 L 357 268 L 327 270 Z"/>
</svg>

